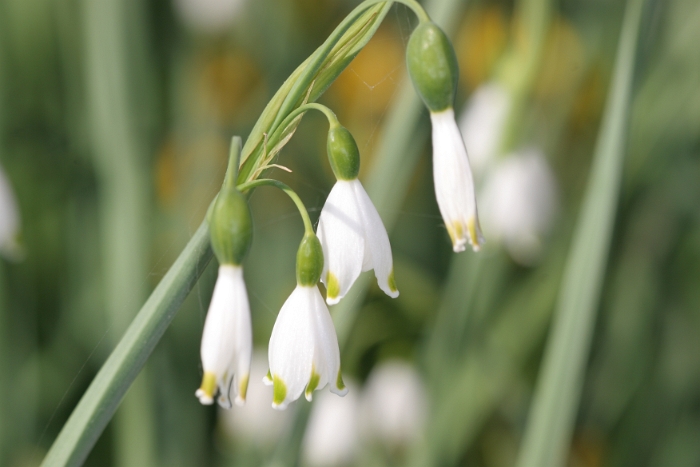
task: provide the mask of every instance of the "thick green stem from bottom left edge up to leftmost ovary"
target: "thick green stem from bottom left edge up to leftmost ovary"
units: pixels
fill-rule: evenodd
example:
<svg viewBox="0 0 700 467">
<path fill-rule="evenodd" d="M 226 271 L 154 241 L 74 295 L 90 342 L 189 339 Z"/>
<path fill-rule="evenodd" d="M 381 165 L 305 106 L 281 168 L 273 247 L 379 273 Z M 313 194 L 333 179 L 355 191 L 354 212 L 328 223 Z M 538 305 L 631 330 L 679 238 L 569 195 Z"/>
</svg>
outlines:
<svg viewBox="0 0 700 467">
<path fill-rule="evenodd" d="M 42 466 L 82 464 L 211 257 L 203 222 L 95 376 Z"/>
</svg>

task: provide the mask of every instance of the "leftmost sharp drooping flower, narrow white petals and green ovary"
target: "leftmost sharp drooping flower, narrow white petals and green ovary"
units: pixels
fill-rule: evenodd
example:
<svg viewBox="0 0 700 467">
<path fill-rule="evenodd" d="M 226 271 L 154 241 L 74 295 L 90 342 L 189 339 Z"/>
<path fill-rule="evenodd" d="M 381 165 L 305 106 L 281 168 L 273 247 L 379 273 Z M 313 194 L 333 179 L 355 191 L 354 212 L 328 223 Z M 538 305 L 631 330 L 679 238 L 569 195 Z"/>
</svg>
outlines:
<svg viewBox="0 0 700 467">
<path fill-rule="evenodd" d="M 239 141 L 234 140 L 237 143 L 240 150 Z M 231 183 L 219 192 L 209 229 L 220 266 L 202 335 L 204 376 L 195 395 L 208 405 L 218 391 L 219 405 L 230 408 L 232 397 L 239 405 L 245 403 L 253 344 L 241 267 L 250 249 L 253 223 L 247 201 Z"/>
</svg>

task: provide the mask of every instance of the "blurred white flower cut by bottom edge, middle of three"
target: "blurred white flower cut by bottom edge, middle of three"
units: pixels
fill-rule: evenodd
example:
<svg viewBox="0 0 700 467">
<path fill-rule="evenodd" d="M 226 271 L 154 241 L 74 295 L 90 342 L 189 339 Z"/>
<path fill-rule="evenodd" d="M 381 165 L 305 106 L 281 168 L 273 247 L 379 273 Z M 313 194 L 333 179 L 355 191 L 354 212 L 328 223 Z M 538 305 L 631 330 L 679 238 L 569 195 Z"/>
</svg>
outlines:
<svg viewBox="0 0 700 467">
<path fill-rule="evenodd" d="M 305 465 L 328 467 L 352 462 L 358 444 L 359 401 L 355 392 L 342 399 L 327 392 L 318 395 L 304 434 Z"/>
</svg>

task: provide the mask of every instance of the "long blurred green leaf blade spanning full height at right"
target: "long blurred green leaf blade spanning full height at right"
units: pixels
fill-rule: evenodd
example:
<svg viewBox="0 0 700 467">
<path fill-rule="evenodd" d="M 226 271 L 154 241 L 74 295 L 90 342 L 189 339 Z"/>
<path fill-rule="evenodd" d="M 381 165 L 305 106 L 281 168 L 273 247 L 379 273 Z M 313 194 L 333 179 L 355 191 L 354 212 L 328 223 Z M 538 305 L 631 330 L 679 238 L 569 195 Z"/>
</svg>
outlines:
<svg viewBox="0 0 700 467">
<path fill-rule="evenodd" d="M 568 453 L 615 220 L 643 5 L 643 0 L 627 3 L 591 179 L 564 272 L 519 467 L 564 465 Z"/>
</svg>

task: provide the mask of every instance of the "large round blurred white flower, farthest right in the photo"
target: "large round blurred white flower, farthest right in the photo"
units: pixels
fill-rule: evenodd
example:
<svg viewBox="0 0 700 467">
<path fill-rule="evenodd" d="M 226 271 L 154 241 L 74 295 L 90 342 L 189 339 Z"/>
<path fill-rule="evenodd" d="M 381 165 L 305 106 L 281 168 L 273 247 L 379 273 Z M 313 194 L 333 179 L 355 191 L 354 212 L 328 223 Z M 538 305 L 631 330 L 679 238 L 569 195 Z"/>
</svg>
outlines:
<svg viewBox="0 0 700 467">
<path fill-rule="evenodd" d="M 502 241 L 515 261 L 536 262 L 556 214 L 557 193 L 554 174 L 540 150 L 506 156 L 484 183 L 484 230 Z"/>
</svg>

